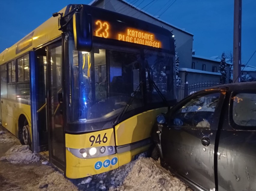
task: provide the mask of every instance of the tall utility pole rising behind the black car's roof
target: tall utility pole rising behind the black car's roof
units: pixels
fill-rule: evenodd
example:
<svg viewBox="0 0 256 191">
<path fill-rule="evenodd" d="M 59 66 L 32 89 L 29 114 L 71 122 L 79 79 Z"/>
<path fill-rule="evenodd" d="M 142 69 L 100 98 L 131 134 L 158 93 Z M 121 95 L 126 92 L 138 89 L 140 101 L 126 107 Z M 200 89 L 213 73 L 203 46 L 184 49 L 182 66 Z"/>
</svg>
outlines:
<svg viewBox="0 0 256 191">
<path fill-rule="evenodd" d="M 241 82 L 242 0 L 234 0 L 233 83 Z"/>
</svg>

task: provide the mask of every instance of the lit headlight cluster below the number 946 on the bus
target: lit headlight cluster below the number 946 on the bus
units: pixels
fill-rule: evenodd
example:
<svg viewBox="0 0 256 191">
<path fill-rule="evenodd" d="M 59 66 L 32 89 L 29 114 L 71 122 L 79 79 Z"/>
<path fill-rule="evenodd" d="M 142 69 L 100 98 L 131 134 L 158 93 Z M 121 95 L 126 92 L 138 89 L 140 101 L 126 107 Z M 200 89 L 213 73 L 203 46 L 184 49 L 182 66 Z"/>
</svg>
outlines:
<svg viewBox="0 0 256 191">
<path fill-rule="evenodd" d="M 96 157 L 108 156 L 115 154 L 116 150 L 114 146 L 99 146 L 89 148 L 67 148 L 73 155 L 80 159 L 91 159 Z"/>
</svg>

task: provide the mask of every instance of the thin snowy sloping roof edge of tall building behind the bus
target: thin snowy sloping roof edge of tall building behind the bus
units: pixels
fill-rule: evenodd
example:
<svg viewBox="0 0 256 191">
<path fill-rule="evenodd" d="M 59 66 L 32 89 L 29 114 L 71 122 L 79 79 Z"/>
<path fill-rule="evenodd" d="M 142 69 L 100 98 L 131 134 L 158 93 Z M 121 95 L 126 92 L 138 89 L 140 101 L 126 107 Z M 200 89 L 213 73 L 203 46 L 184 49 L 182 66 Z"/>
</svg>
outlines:
<svg viewBox="0 0 256 191">
<path fill-rule="evenodd" d="M 101 0 L 93 0 L 93 1 L 91 1 L 88 5 L 93 5 L 93 4 L 95 4 L 97 1 L 101 1 Z M 109 0 L 109 1 L 110 1 L 110 0 Z M 166 21 L 164 21 L 164 20 L 162 20 L 162 19 L 159 19 L 157 16 L 154 16 L 154 15 L 152 15 L 152 14 L 150 14 L 150 13 L 148 13 L 148 12 L 142 10 L 142 9 L 139 9 L 138 7 L 135 7 L 133 4 L 129 3 L 128 1 L 125 1 L 125 0 L 117 0 L 117 1 L 123 2 L 123 3 L 127 4 L 127 5 L 129 5 L 130 7 L 133 7 L 134 9 L 138 10 L 139 12 L 142 12 L 142 13 L 144 13 L 144 14 L 146 14 L 146 15 L 152 17 L 153 19 L 156 19 L 156 20 L 158 20 L 158 21 L 160 21 L 160 22 L 162 22 L 162 23 L 164 23 L 164 24 L 166 24 L 166 25 L 169 25 L 169 26 L 171 26 L 172 28 L 175 28 L 175 29 L 177 29 L 177 30 L 179 30 L 179 31 L 182 31 L 182 32 L 185 32 L 185 33 L 187 33 L 187 34 L 190 34 L 190 35 L 194 36 L 194 34 L 192 34 L 192 33 L 188 32 L 188 31 L 186 31 L 184 28 L 179 28 L 179 27 L 177 27 L 177 26 L 175 26 L 175 25 L 170 24 L 169 22 L 166 22 Z"/>
</svg>

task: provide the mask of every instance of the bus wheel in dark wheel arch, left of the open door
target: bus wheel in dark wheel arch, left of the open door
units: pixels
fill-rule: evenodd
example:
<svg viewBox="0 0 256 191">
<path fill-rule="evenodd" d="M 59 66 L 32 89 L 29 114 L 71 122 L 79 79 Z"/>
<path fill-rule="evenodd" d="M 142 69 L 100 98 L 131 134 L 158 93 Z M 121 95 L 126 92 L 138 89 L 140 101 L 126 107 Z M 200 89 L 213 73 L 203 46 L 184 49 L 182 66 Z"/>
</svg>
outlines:
<svg viewBox="0 0 256 191">
<path fill-rule="evenodd" d="M 29 123 L 25 115 L 21 114 L 18 120 L 19 125 L 19 140 L 22 145 L 30 145 L 30 130 Z"/>
</svg>

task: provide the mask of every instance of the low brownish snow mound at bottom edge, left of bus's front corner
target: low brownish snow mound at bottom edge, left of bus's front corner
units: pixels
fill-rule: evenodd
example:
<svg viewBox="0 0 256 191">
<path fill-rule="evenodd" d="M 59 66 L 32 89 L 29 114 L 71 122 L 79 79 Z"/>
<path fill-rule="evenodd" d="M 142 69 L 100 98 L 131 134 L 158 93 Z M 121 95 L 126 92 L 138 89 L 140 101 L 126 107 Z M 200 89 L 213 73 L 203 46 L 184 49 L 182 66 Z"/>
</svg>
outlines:
<svg viewBox="0 0 256 191">
<path fill-rule="evenodd" d="M 36 186 L 29 187 L 28 190 L 78 190 L 68 179 L 64 178 L 59 172 L 52 172 L 42 177 Z"/>
</svg>

